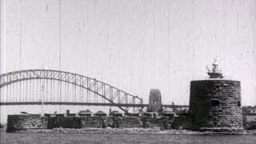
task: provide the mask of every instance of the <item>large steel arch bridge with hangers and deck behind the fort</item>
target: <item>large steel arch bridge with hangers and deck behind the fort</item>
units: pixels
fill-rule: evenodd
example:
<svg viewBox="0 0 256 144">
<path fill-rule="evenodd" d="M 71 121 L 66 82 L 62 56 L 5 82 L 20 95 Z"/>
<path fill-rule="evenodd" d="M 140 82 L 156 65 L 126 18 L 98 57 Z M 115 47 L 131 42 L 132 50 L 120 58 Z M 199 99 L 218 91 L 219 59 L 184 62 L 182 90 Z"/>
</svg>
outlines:
<svg viewBox="0 0 256 144">
<path fill-rule="evenodd" d="M 0 90 L 0 105 L 117 106 L 125 113 L 136 113 L 144 106 L 142 98 L 96 78 L 60 70 L 1 74 Z"/>
</svg>

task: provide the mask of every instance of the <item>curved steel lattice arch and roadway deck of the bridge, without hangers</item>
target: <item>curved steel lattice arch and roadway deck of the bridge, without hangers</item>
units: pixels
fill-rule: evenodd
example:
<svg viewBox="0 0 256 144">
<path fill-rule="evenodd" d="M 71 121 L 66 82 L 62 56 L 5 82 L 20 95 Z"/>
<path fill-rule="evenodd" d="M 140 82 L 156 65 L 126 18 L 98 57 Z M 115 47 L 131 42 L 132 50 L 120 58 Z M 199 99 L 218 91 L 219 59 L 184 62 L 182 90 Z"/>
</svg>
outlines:
<svg viewBox="0 0 256 144">
<path fill-rule="evenodd" d="M 93 92 L 97 96 L 104 98 L 106 103 L 99 102 L 87 102 L 87 105 L 98 105 L 98 106 L 118 106 L 122 111 L 129 113 L 132 110 L 133 113 L 138 112 L 138 108 L 142 107 L 142 98 L 138 98 L 138 96 L 128 94 L 123 90 L 119 90 L 114 86 L 110 86 L 105 82 L 98 81 L 96 78 L 89 78 L 80 74 L 74 74 L 66 71 L 60 70 L 19 70 L 6 74 L 0 75 L 0 89 L 5 86 L 9 86 L 16 82 L 29 81 L 29 80 L 37 80 L 37 79 L 46 79 L 46 80 L 54 80 L 58 82 L 66 82 L 70 83 L 74 86 L 79 86 L 82 89 L 89 90 Z M 38 104 L 40 102 L 30 102 L 30 101 L 19 101 L 10 102 L 8 98 L 6 100 L 1 100 L 1 105 L 4 104 L 15 104 L 23 103 L 23 104 Z M 86 102 L 63 102 L 62 97 L 60 96 L 59 102 L 50 102 L 45 101 L 47 104 L 85 104 Z"/>
</svg>

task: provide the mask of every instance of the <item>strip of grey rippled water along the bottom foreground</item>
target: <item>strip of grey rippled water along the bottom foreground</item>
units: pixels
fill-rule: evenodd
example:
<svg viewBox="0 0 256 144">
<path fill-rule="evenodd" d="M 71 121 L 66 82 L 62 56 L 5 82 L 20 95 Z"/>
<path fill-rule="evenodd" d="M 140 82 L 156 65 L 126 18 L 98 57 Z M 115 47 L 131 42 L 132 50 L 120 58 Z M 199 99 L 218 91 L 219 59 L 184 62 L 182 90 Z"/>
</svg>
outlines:
<svg viewBox="0 0 256 144">
<path fill-rule="evenodd" d="M 6 133 L 2 143 L 256 143 L 255 135 Z"/>
</svg>

